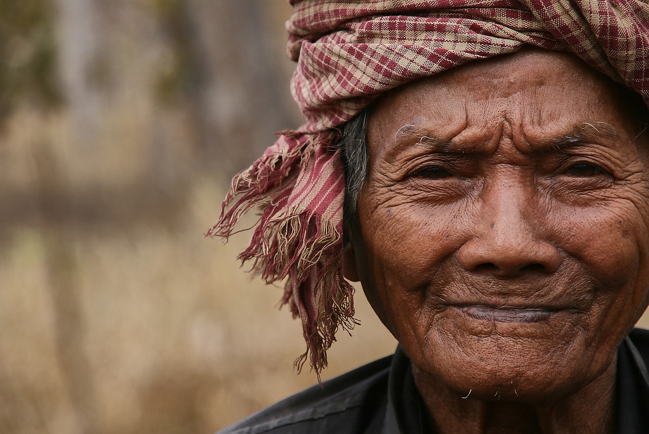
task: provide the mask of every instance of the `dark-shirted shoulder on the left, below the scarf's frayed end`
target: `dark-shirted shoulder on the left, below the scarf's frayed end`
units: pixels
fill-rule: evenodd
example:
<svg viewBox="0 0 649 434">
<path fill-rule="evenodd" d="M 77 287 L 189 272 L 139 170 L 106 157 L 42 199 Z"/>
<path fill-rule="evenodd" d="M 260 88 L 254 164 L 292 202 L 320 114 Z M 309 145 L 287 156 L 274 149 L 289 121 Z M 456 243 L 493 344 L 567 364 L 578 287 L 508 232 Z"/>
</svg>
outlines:
<svg viewBox="0 0 649 434">
<path fill-rule="evenodd" d="M 392 357 L 289 396 L 218 434 L 370 432 L 385 412 Z"/>
</svg>

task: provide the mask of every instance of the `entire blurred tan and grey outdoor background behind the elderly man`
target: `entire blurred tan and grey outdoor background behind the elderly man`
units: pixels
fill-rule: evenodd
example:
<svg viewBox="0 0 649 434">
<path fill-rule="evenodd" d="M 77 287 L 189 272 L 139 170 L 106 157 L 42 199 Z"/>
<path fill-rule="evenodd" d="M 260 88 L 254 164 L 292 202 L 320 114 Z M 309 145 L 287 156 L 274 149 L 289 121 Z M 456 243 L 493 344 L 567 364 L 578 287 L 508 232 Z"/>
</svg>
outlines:
<svg viewBox="0 0 649 434">
<path fill-rule="evenodd" d="M 0 0 L 0 433 L 212 433 L 317 381 L 249 235 L 203 236 L 300 123 L 287 3 Z M 356 310 L 324 378 L 395 348 Z"/>
</svg>

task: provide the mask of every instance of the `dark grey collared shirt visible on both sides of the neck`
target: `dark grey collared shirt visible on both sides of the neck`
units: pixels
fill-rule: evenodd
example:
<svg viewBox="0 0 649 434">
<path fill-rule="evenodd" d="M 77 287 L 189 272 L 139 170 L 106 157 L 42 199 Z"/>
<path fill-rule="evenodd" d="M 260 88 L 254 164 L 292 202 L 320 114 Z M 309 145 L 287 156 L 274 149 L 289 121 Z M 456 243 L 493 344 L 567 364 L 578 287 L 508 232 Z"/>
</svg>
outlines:
<svg viewBox="0 0 649 434">
<path fill-rule="evenodd" d="M 619 434 L 649 433 L 649 331 L 633 329 L 618 348 Z M 410 359 L 394 355 L 295 394 L 219 434 L 420 434 L 430 432 Z"/>
</svg>

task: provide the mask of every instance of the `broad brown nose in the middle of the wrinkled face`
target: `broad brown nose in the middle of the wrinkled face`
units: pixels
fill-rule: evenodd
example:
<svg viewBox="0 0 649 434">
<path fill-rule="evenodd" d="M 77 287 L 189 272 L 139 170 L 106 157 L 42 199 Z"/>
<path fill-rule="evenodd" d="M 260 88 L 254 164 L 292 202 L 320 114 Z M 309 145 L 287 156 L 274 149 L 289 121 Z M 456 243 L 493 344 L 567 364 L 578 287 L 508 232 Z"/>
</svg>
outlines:
<svg viewBox="0 0 649 434">
<path fill-rule="evenodd" d="M 524 272 L 553 273 L 559 268 L 559 250 L 543 238 L 543 207 L 523 185 L 493 185 L 481 195 L 474 237 L 458 251 L 465 270 L 499 277 Z"/>
</svg>

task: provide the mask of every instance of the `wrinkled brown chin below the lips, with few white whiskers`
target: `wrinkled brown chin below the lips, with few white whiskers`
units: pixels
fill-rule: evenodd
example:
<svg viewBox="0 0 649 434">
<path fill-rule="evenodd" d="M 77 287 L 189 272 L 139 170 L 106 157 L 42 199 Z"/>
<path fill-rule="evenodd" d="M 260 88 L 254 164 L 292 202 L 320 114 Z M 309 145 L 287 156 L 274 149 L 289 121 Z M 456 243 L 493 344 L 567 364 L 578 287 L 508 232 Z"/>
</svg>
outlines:
<svg viewBox="0 0 649 434">
<path fill-rule="evenodd" d="M 464 328 L 455 323 L 452 332 L 433 329 L 425 341 L 423 351 L 413 351 L 413 364 L 459 396 L 471 390 L 481 400 L 530 403 L 582 389 L 615 364 L 619 344 L 593 346 L 582 328 L 561 318 Z"/>
</svg>

